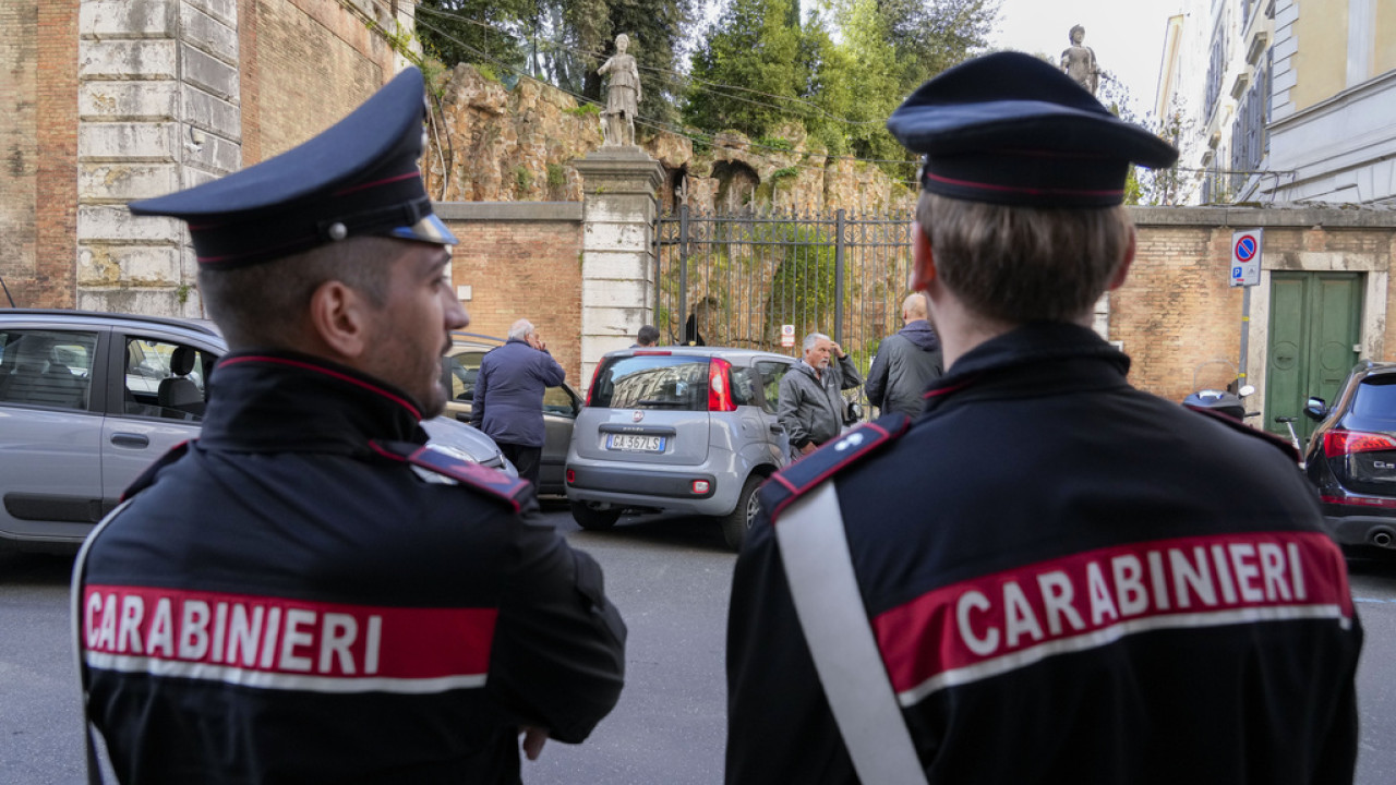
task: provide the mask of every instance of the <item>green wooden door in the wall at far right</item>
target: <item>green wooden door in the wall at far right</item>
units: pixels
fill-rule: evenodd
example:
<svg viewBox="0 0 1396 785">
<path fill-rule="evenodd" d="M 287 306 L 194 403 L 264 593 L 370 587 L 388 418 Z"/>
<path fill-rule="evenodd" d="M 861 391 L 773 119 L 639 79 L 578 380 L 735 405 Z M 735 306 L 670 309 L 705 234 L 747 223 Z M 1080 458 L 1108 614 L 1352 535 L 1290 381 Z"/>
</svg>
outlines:
<svg viewBox="0 0 1396 785">
<path fill-rule="evenodd" d="M 1297 416 L 1308 439 L 1314 420 L 1304 402 L 1333 402 L 1357 363 L 1361 339 L 1362 277 L 1358 272 L 1270 274 L 1270 337 L 1265 374 L 1265 429 L 1289 436 L 1277 416 Z"/>
</svg>

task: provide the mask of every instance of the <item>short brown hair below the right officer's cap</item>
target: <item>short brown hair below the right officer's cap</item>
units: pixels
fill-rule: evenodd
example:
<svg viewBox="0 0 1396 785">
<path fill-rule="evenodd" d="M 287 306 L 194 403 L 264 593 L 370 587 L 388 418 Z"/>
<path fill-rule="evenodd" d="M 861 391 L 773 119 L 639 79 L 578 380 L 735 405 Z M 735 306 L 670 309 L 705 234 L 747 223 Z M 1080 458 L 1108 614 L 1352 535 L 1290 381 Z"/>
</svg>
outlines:
<svg viewBox="0 0 1396 785">
<path fill-rule="evenodd" d="M 1089 313 L 1124 261 L 1132 230 L 1121 207 L 1013 207 L 930 191 L 916 218 L 941 284 L 974 313 L 1008 323 Z"/>
</svg>

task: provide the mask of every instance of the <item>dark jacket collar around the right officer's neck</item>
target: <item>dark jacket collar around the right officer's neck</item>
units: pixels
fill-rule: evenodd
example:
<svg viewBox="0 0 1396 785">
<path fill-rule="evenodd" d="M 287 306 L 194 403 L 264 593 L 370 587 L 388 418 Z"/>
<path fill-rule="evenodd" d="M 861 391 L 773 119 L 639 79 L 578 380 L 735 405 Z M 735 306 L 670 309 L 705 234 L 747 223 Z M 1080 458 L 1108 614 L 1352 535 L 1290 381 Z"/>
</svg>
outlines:
<svg viewBox="0 0 1396 785">
<path fill-rule="evenodd" d="M 1128 387 L 1129 358 L 1093 330 L 1034 321 L 984 341 L 955 360 L 926 392 L 927 409 L 980 394 Z"/>
</svg>

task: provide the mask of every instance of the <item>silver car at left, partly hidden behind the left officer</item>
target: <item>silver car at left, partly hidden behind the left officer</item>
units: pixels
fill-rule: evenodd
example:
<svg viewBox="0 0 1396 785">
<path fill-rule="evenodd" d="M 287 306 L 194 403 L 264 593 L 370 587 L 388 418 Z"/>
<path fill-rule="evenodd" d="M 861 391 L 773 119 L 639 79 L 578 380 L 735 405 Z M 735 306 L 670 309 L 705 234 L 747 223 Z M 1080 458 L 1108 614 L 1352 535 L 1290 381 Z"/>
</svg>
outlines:
<svg viewBox="0 0 1396 785">
<path fill-rule="evenodd" d="M 226 352 L 211 321 L 0 309 L 0 548 L 80 545 L 145 467 L 198 437 Z M 423 427 L 436 448 L 518 476 L 473 427 Z"/>
</svg>

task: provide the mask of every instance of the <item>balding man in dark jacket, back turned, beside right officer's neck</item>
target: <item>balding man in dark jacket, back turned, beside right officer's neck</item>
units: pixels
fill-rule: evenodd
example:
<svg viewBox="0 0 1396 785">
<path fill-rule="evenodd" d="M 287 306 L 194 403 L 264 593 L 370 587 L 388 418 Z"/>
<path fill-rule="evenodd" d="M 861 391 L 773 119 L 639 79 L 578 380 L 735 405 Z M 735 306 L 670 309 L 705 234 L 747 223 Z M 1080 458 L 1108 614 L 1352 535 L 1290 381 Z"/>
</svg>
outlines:
<svg viewBox="0 0 1396 785">
<path fill-rule="evenodd" d="M 863 390 L 884 415 L 914 418 L 926 406 L 926 388 L 942 373 L 941 341 L 926 320 L 926 298 L 917 292 L 902 300 L 902 323 L 905 327 L 877 348 Z"/>
</svg>

